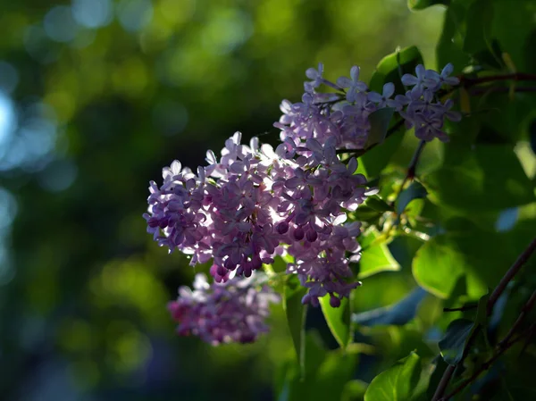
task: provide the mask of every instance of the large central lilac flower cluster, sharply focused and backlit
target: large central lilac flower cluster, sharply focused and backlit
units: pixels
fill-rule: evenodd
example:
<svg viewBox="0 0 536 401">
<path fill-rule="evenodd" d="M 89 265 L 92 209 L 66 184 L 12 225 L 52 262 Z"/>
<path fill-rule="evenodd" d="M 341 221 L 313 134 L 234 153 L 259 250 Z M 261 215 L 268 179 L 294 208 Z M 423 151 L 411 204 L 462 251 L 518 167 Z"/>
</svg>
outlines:
<svg viewBox="0 0 536 401">
<path fill-rule="evenodd" d="M 216 282 L 251 276 L 276 255 L 294 257 L 288 272 L 309 288 L 304 303 L 340 297 L 359 283 L 350 262 L 359 260 L 359 222 L 346 223 L 369 194 L 356 159 L 341 163 L 334 140 L 304 146 L 287 141 L 273 150 L 240 144 L 236 133 L 221 158 L 207 152 L 197 175 L 175 161 L 163 169 L 163 186 L 151 182 L 147 230 L 161 246 L 191 255 L 191 264 L 213 260 Z"/>
</svg>

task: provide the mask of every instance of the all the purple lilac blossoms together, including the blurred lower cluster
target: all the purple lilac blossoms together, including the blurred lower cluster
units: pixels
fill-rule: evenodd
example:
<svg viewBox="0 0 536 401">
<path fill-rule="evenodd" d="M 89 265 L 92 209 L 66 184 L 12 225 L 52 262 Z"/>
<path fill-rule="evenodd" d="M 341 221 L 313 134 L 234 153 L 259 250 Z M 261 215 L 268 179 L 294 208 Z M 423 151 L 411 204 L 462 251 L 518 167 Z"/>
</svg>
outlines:
<svg viewBox="0 0 536 401">
<path fill-rule="evenodd" d="M 348 212 L 377 190 L 356 173 L 356 158 L 343 163 L 338 151 L 364 149 L 369 116 L 383 107 L 398 112 L 417 138 L 447 141 L 443 121 L 459 120 L 459 114 L 449 110 L 450 101 L 442 104 L 437 93 L 457 84 L 451 71 L 450 64 L 441 73 L 419 65 L 416 76 L 402 77 L 413 88 L 395 96 L 393 83 L 386 83 L 381 94 L 370 91 L 356 66 L 349 78 L 333 83 L 322 77 L 319 64 L 306 71 L 310 80 L 302 101 L 281 103 L 283 115 L 274 123 L 281 129 L 281 144 L 275 149 L 258 138 L 243 145 L 237 132 L 220 157 L 209 150 L 207 165 L 196 172 L 178 161 L 164 168 L 163 185 L 150 183 L 147 231 L 170 252 L 190 255 L 191 265 L 212 261 L 214 278 L 209 285 L 198 276 L 194 292 L 181 288 L 170 305 L 179 332 L 213 344 L 255 339 L 265 329 L 267 306 L 260 300 L 252 304 L 253 295 L 244 295 L 255 291 L 244 278 L 277 255 L 292 257 L 286 272 L 297 274 L 307 288 L 304 304 L 317 306 L 320 297 L 329 295 L 331 306 L 338 307 L 349 297 L 360 285 L 350 263 L 360 259 L 356 238 L 361 224 L 348 221 Z M 318 92 L 321 86 L 332 91 Z M 247 281 L 242 285 L 240 280 Z"/>
</svg>

